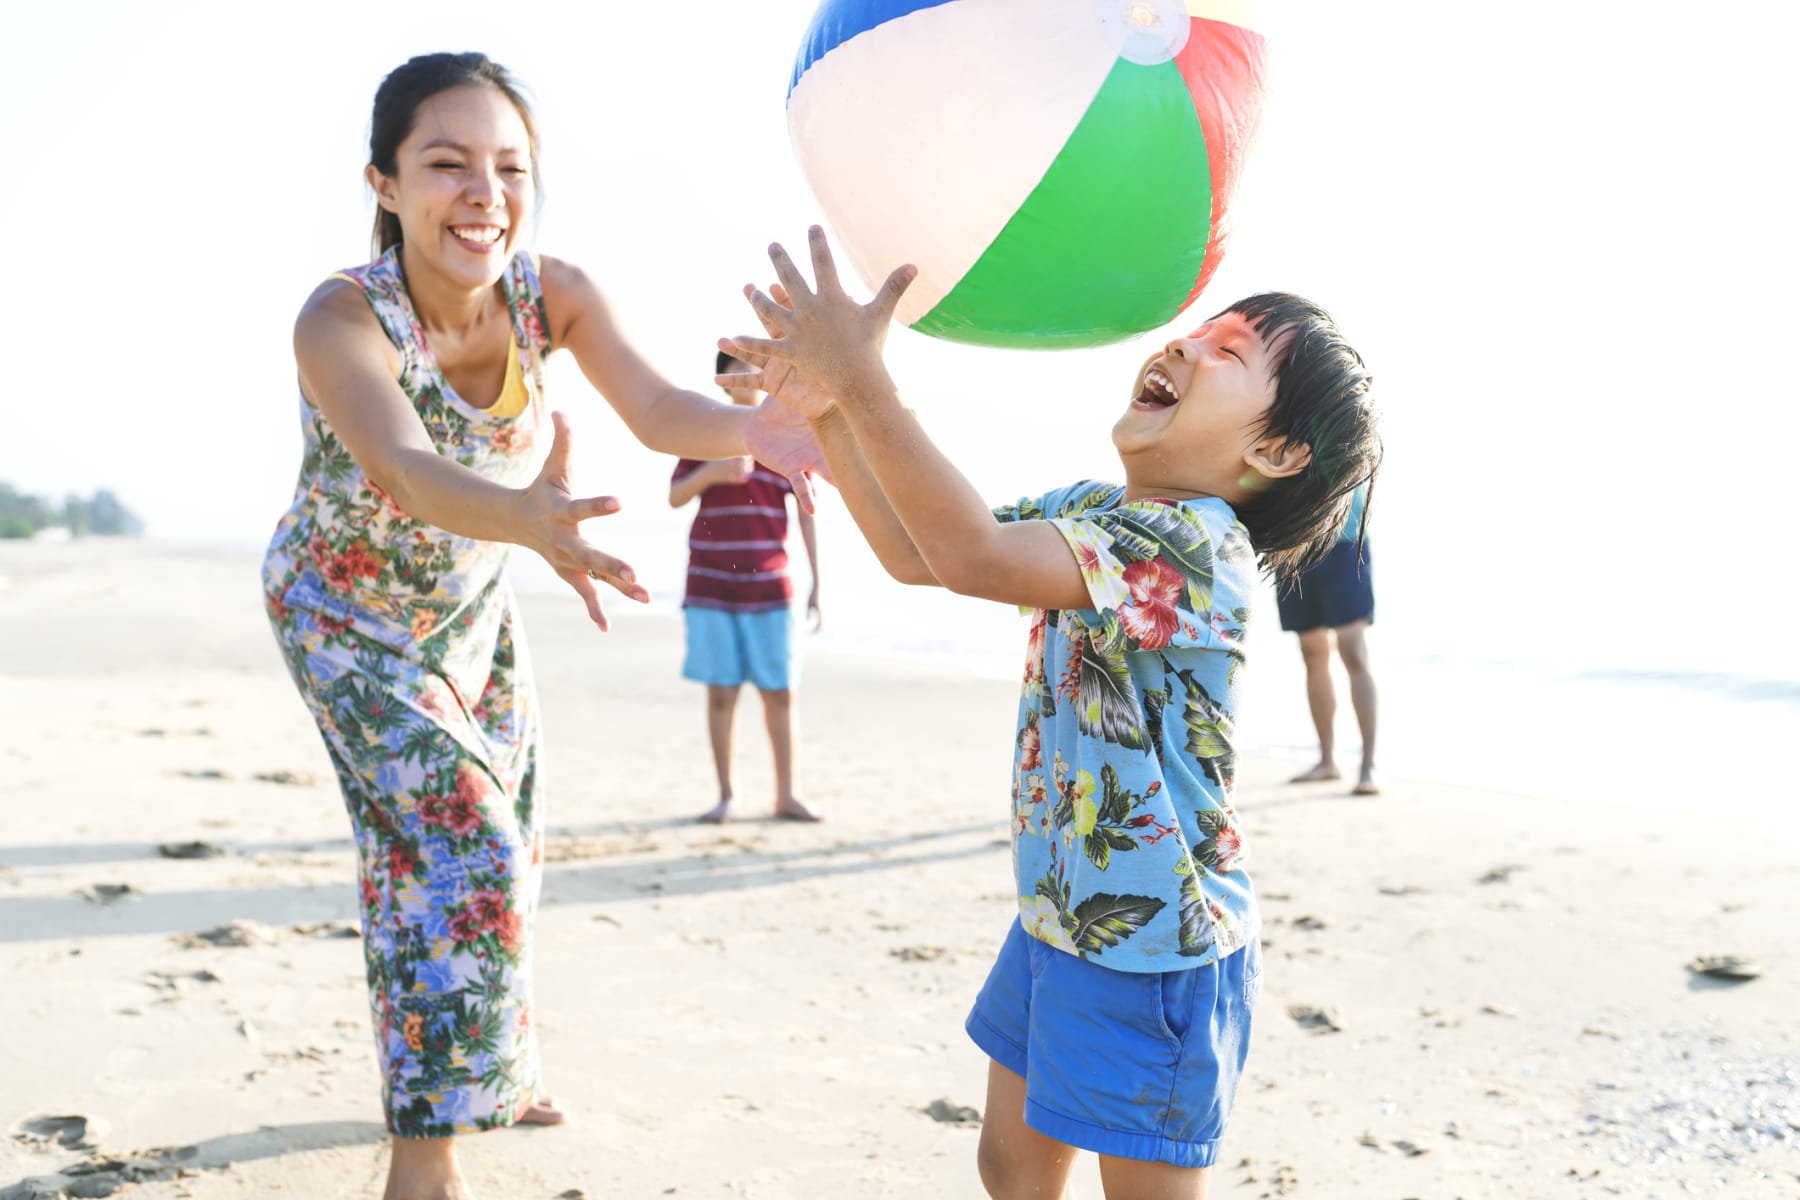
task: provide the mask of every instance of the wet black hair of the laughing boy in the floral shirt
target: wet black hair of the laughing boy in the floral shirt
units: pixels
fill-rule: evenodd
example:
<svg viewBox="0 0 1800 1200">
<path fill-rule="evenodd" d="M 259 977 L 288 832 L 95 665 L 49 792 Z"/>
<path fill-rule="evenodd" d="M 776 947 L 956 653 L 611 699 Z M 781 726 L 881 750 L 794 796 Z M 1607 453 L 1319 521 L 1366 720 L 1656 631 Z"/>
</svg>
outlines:
<svg viewBox="0 0 1800 1200">
<path fill-rule="evenodd" d="M 1274 401 L 1256 435 L 1273 434 L 1312 450 L 1298 475 L 1271 480 L 1260 495 L 1237 506 L 1262 569 L 1280 585 L 1332 549 L 1359 486 L 1368 484 L 1373 495 L 1382 453 L 1375 380 L 1332 315 L 1312 300 L 1264 291 L 1226 311 L 1249 320 L 1271 349 Z M 1370 497 L 1364 497 L 1355 531 L 1359 545 L 1368 527 Z"/>
</svg>

